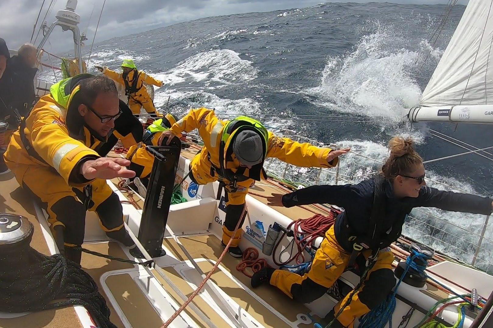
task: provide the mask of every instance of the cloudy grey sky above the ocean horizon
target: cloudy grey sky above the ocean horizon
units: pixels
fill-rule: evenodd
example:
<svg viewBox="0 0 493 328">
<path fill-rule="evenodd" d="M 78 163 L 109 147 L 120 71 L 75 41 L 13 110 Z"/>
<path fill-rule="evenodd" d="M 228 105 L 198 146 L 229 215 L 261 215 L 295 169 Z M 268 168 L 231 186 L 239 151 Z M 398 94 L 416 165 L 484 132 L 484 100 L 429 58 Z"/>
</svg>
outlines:
<svg viewBox="0 0 493 328">
<path fill-rule="evenodd" d="M 50 2 L 53 10 L 46 16 L 45 21 L 50 25 L 55 20 L 55 13 L 64 9 L 66 0 L 44 0 L 39 21 L 42 22 Z M 468 0 L 459 0 L 467 4 Z M 25 42 L 30 42 L 33 25 L 39 13 L 43 0 L 1 0 L 0 1 L 0 37 L 5 39 L 9 49 L 18 49 Z M 141 31 L 152 30 L 180 22 L 186 22 L 203 17 L 240 14 L 247 12 L 267 12 L 290 8 L 313 6 L 320 0 L 106 0 L 95 42 L 107 40 L 115 36 L 128 35 Z M 328 2 L 370 2 L 368 0 L 333 0 Z M 444 3 L 449 0 L 372 0 L 371 2 L 393 3 Z M 144 3 L 145 5 L 138 5 Z M 75 10 L 81 16 L 79 29 L 86 31 L 89 40 L 92 38 L 98 24 L 103 0 L 78 0 Z M 39 25 L 39 24 L 38 24 Z M 38 29 L 34 34 L 36 37 Z M 48 51 L 68 49 L 71 39 L 62 34 L 60 28 L 50 37 L 50 44 L 44 48 Z M 63 36 L 62 36 L 63 35 Z M 42 38 L 38 36 L 37 42 Z M 62 42 L 65 41 L 64 42 Z"/>
</svg>

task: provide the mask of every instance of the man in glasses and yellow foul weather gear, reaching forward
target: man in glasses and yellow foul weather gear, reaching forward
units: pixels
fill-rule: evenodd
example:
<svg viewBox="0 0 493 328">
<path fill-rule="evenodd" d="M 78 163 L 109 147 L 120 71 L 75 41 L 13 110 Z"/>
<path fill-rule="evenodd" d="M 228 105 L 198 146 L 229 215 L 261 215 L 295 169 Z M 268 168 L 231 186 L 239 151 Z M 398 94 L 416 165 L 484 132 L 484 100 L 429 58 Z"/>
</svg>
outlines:
<svg viewBox="0 0 493 328">
<path fill-rule="evenodd" d="M 132 178 L 124 158 L 105 157 L 116 142 L 142 139 L 142 125 L 120 101 L 105 76 L 80 74 L 62 80 L 23 119 L 4 154 L 23 188 L 46 206 L 60 251 L 79 263 L 73 248 L 84 241 L 86 210 L 95 211 L 110 239 L 135 247 L 123 226 L 118 196 L 106 179 Z"/>
</svg>

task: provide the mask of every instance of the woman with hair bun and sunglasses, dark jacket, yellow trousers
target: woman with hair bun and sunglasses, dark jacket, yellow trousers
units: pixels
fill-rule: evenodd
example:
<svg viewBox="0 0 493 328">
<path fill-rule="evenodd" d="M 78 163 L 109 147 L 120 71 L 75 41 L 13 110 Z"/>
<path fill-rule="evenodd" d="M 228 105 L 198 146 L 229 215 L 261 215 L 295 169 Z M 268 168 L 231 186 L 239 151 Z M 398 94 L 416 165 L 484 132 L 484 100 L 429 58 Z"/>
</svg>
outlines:
<svg viewBox="0 0 493 328">
<path fill-rule="evenodd" d="M 427 187 L 423 159 L 414 150 L 411 139 L 394 137 L 389 149 L 390 156 L 375 178 L 358 184 L 315 185 L 269 197 L 270 206 L 328 203 L 345 211 L 326 232 L 308 273 L 300 276 L 263 268 L 253 274 L 251 286 L 270 282 L 290 298 L 308 303 L 323 296 L 357 256 L 356 263 L 362 260 L 363 267 L 372 265 L 366 280 L 359 291 L 348 294 L 327 316 L 329 322 L 337 317 L 331 327 L 353 327 L 357 317 L 377 307 L 394 287 L 394 257 L 388 246 L 400 236 L 404 220 L 413 208 L 491 214 L 490 198 Z M 350 305 L 344 306 L 349 297 Z"/>
</svg>

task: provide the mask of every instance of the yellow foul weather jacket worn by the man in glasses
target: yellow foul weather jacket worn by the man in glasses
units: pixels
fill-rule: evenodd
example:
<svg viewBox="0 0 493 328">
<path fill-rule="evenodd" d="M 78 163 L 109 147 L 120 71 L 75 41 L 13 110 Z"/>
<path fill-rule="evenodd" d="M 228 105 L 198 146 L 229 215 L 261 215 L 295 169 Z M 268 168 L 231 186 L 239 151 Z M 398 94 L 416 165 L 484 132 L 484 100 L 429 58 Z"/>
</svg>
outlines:
<svg viewBox="0 0 493 328">
<path fill-rule="evenodd" d="M 53 85 L 12 135 L 4 158 L 21 185 L 25 172 L 35 166 L 58 172 L 72 187 L 84 186 L 91 181 L 70 179 L 81 159 L 105 156 L 117 139 L 124 147 L 141 141 L 142 126 L 123 102 L 122 124 L 117 124 L 117 119 L 115 129 L 106 138 L 91 133 L 83 124 L 77 111 L 80 102 L 72 100 L 79 90 L 78 82 L 91 76 L 81 74 Z"/>
</svg>

